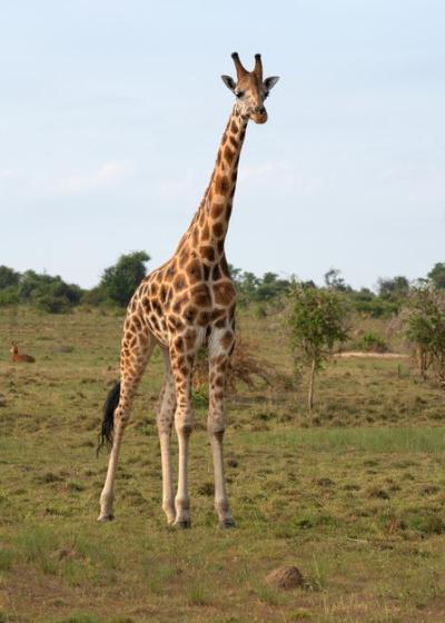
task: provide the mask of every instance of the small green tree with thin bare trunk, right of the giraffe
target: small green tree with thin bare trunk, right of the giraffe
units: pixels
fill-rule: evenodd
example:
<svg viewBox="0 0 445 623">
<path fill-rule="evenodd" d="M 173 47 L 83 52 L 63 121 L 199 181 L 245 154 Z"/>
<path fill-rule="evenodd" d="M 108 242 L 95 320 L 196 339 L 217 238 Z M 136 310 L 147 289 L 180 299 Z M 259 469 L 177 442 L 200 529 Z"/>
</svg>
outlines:
<svg viewBox="0 0 445 623">
<path fill-rule="evenodd" d="M 348 310 L 345 298 L 330 289 L 316 289 L 294 283 L 289 293 L 287 324 L 295 360 L 309 372 L 307 405 L 314 407 L 314 382 L 336 345 L 348 338 Z"/>
</svg>

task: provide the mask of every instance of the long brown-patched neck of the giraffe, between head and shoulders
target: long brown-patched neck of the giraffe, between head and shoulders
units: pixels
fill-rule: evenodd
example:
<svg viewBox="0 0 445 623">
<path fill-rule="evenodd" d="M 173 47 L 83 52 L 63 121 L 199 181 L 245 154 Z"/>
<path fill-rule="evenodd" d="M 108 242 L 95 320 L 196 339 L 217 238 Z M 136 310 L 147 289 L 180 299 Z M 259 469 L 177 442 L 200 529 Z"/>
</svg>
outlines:
<svg viewBox="0 0 445 623">
<path fill-rule="evenodd" d="M 197 255 L 214 264 L 224 254 L 248 117 L 235 106 L 222 135 L 210 184 L 179 247 L 189 240 Z"/>
</svg>

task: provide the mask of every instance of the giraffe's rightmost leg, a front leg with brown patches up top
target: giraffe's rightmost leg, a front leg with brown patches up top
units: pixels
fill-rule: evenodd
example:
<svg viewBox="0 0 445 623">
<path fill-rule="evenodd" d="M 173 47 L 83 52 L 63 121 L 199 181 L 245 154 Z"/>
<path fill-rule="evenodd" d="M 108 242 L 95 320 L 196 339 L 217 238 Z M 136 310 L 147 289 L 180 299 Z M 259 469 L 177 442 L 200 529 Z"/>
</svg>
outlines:
<svg viewBox="0 0 445 623">
<path fill-rule="evenodd" d="M 210 404 L 207 429 L 214 458 L 215 510 L 218 514 L 219 527 L 222 528 L 235 526 L 226 491 L 222 452 L 224 433 L 226 429 L 226 374 L 234 346 L 235 335 L 231 329 L 214 330 L 209 353 Z"/>
</svg>

